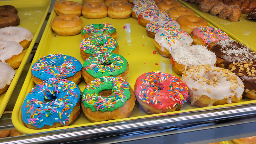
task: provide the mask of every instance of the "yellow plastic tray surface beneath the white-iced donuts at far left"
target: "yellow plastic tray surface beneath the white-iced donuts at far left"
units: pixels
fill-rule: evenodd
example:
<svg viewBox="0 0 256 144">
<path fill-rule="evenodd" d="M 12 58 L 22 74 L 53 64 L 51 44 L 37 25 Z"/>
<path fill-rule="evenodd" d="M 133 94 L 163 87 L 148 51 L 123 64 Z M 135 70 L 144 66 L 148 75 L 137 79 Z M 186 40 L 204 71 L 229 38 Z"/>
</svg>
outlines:
<svg viewBox="0 0 256 144">
<path fill-rule="evenodd" d="M 18 82 L 20 74 L 28 60 L 29 54 L 36 42 L 36 38 L 42 28 L 44 20 L 49 11 L 51 0 L 14 0 L 14 1 L 0 1 L 0 5 L 12 5 L 17 8 L 18 16 L 20 17 L 20 25 L 18 27 L 27 28 L 34 35 L 33 40 L 29 47 L 24 50 L 25 57 L 22 60 L 20 67 L 16 68 L 16 74 L 12 80 L 9 89 L 0 95 L 0 118 L 4 112 L 4 109 L 9 101 L 13 89 Z"/>
</svg>

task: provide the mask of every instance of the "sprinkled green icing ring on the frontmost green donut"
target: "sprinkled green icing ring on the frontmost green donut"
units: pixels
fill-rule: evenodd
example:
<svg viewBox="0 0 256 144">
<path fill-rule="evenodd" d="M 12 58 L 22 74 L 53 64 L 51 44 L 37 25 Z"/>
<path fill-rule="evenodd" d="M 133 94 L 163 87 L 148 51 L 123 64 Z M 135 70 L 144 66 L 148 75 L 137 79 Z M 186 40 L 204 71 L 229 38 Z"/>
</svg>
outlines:
<svg viewBox="0 0 256 144">
<path fill-rule="evenodd" d="M 82 104 L 92 111 L 113 111 L 120 108 L 130 99 L 129 83 L 120 77 L 102 76 L 85 86 L 82 95 Z M 112 90 L 108 96 L 101 96 L 99 92 Z"/>
</svg>

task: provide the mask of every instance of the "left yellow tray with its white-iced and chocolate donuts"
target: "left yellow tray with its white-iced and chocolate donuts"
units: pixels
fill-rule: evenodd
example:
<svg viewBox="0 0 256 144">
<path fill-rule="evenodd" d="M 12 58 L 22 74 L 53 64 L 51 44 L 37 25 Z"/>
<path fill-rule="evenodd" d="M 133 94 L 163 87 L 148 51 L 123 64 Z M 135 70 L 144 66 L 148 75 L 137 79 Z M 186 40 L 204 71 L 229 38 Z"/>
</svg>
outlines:
<svg viewBox="0 0 256 144">
<path fill-rule="evenodd" d="M 0 1 L 0 117 L 49 11 L 50 0 Z"/>
</svg>

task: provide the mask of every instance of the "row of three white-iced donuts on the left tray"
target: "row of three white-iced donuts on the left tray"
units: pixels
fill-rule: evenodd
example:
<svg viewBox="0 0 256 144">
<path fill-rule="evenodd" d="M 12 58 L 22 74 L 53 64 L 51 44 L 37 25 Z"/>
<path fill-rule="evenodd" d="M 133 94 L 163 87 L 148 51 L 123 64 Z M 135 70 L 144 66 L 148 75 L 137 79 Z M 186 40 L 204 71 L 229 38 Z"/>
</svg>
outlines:
<svg viewBox="0 0 256 144">
<path fill-rule="evenodd" d="M 33 37 L 27 28 L 0 28 L 0 94 L 8 90 Z"/>
</svg>

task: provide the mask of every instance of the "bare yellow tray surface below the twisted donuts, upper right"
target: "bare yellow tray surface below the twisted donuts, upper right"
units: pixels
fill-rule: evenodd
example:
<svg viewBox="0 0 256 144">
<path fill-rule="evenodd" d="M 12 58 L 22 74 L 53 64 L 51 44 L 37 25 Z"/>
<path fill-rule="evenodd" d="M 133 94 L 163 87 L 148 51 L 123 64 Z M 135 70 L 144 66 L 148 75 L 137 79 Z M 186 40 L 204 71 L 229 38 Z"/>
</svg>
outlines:
<svg viewBox="0 0 256 144">
<path fill-rule="evenodd" d="M 239 21 L 231 22 L 228 19 L 222 20 L 218 16 L 211 15 L 210 12 L 205 13 L 201 12 L 196 3 L 183 2 L 178 0 L 181 4 L 184 4 L 186 7 L 192 9 L 200 17 L 207 20 L 216 28 L 220 28 L 222 31 L 226 32 L 229 37 L 237 40 L 239 43 L 248 45 L 254 52 L 256 49 L 256 21 L 248 20 L 247 14 L 241 15 Z"/>
</svg>

